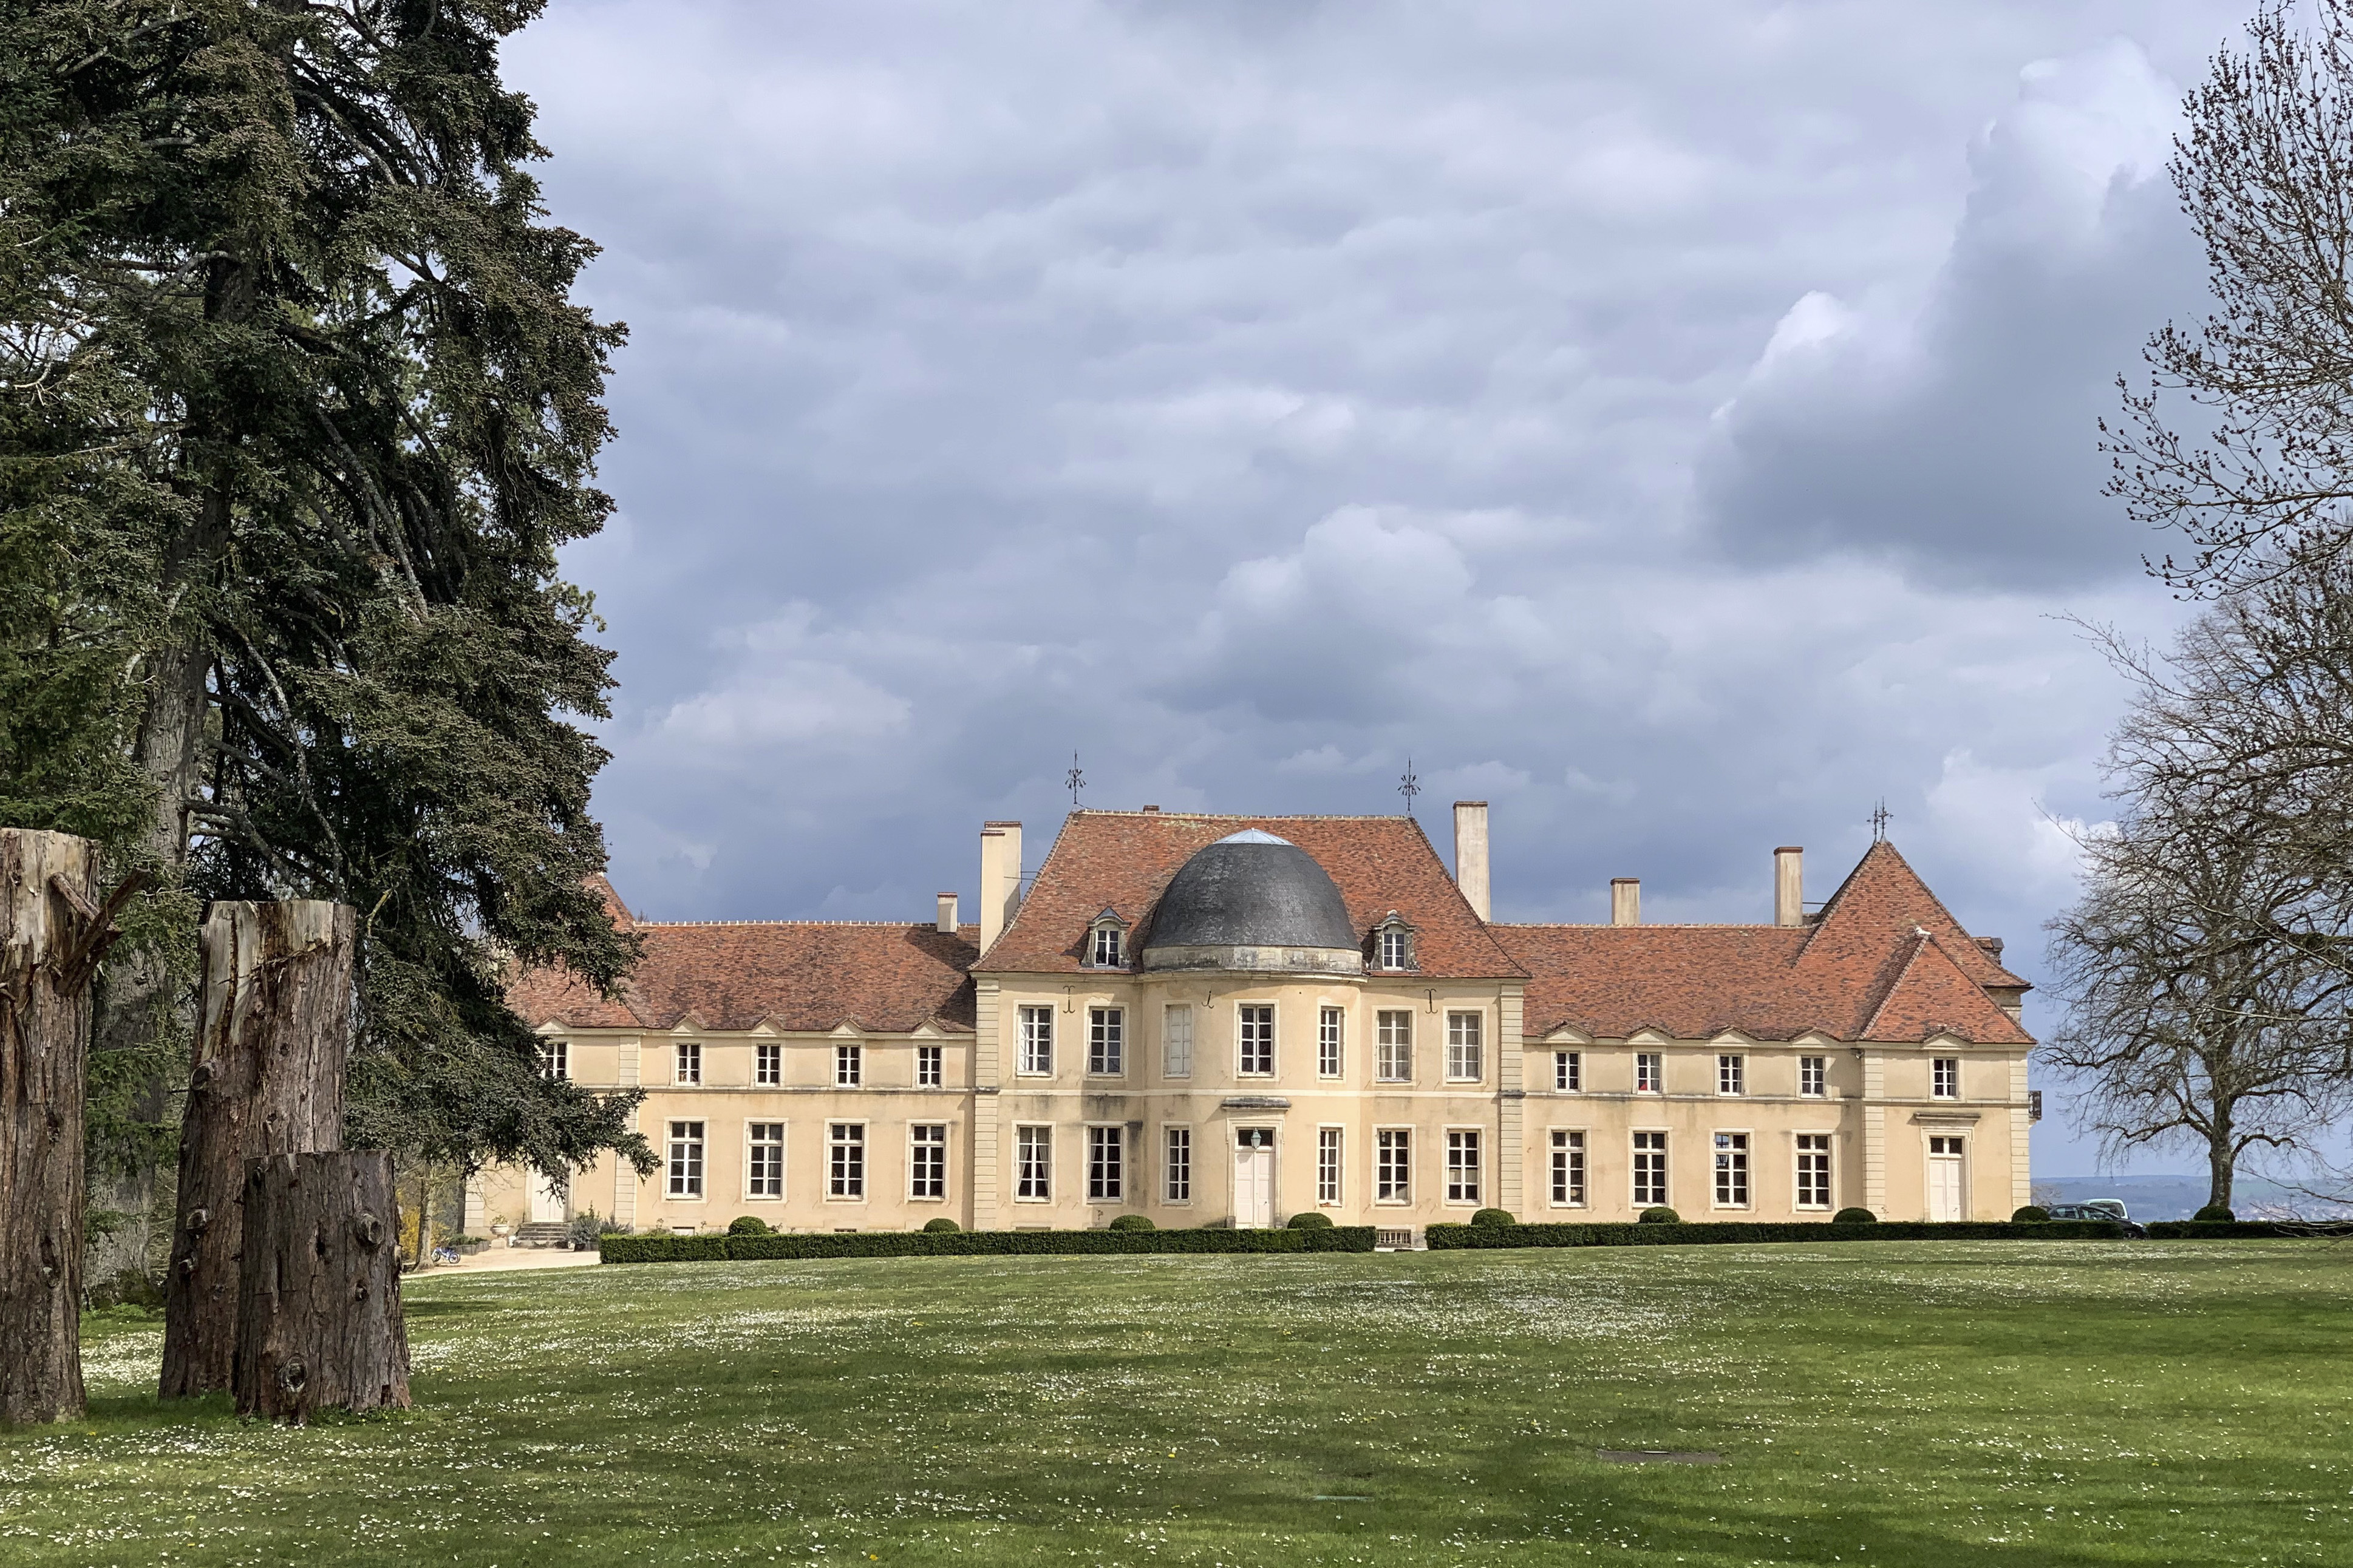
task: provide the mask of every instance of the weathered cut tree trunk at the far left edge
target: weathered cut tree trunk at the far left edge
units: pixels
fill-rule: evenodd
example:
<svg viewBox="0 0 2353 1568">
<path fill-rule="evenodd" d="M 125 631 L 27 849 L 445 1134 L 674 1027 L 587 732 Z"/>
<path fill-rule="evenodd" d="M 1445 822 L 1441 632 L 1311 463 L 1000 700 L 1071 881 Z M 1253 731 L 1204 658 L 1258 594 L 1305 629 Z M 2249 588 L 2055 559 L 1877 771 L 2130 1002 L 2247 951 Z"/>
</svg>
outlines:
<svg viewBox="0 0 2353 1568">
<path fill-rule="evenodd" d="M 0 827 L 0 1422 L 80 1415 L 96 846 Z"/>
</svg>

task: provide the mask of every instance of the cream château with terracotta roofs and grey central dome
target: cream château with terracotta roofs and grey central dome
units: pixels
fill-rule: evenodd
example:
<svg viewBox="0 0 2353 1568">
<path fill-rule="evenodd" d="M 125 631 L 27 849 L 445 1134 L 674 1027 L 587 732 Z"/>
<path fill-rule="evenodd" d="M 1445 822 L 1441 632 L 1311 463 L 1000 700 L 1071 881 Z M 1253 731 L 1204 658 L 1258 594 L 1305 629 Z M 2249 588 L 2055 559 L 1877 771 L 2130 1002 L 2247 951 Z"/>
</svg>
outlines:
<svg viewBox="0 0 2353 1568">
<path fill-rule="evenodd" d="M 1487 806 L 1454 875 L 1412 818 L 1073 811 L 1021 889 L 981 830 L 979 922 L 616 922 L 616 997 L 527 973 L 548 1072 L 645 1088 L 614 1157 L 489 1171 L 468 1229 L 1282 1225 L 1393 1244 L 1529 1220 L 1995 1220 L 2026 1201 L 2026 980 L 1892 844 L 1774 922 L 1499 924 Z M 607 889 L 609 891 L 609 889 Z"/>
</svg>

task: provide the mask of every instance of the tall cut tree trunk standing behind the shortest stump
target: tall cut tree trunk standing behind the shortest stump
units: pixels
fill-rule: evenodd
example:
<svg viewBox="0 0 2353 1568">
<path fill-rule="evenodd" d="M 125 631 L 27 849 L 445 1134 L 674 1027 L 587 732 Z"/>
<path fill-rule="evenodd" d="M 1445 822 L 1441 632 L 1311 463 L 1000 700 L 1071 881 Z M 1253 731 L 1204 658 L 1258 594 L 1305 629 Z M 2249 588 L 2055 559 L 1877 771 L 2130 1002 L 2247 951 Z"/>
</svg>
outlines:
<svg viewBox="0 0 2353 1568">
<path fill-rule="evenodd" d="M 205 917 L 165 1279 L 165 1399 L 231 1387 L 245 1164 L 344 1147 L 355 929 L 351 905 L 311 898 L 224 900 Z"/>
</svg>

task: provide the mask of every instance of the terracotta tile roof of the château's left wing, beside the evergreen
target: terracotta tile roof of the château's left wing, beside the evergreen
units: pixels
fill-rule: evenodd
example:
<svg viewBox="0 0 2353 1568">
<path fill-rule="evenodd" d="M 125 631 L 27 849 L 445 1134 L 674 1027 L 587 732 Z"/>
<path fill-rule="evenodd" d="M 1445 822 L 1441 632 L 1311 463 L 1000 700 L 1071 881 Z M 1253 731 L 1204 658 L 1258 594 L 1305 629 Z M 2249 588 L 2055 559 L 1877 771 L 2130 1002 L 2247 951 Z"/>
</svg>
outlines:
<svg viewBox="0 0 2353 1568">
<path fill-rule="evenodd" d="M 626 919 L 619 898 L 612 905 Z M 972 1032 L 979 929 L 854 922 L 628 922 L 645 957 L 619 999 L 560 971 L 527 971 L 508 1004 L 534 1027 L 576 1030 L 833 1030 L 908 1034 L 925 1023 Z"/>
</svg>

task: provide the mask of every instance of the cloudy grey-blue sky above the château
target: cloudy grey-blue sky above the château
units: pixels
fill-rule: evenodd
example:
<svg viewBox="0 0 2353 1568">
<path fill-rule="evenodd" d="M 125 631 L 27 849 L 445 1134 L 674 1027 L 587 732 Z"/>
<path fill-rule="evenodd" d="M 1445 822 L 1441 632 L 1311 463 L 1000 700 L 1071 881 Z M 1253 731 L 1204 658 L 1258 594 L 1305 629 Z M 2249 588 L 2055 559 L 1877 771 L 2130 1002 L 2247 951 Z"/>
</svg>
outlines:
<svg viewBox="0 0 2353 1568">
<path fill-rule="evenodd" d="M 1367 813 L 1412 755 L 1499 919 L 1765 919 L 1885 797 L 2040 973 L 2120 703 L 2059 616 L 2179 614 L 2094 421 L 2202 310 L 2162 167 L 2245 9 L 558 0 L 614 882 L 927 919 L 1073 750 Z"/>
</svg>

